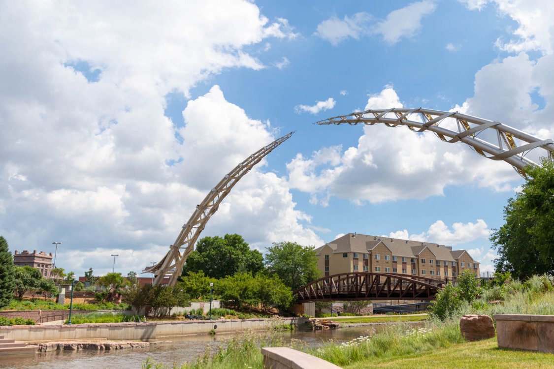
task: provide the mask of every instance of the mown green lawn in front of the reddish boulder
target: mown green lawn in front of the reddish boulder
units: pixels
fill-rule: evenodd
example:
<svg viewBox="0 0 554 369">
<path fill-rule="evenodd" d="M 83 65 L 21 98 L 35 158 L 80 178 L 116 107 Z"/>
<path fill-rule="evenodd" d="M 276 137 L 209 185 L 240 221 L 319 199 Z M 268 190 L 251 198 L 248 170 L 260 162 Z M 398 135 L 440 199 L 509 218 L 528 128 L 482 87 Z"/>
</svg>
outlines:
<svg viewBox="0 0 554 369">
<path fill-rule="evenodd" d="M 552 368 L 554 354 L 542 352 L 499 349 L 496 338 L 464 344 L 454 344 L 445 349 L 419 354 L 363 360 L 345 369 L 362 368 Z"/>
</svg>

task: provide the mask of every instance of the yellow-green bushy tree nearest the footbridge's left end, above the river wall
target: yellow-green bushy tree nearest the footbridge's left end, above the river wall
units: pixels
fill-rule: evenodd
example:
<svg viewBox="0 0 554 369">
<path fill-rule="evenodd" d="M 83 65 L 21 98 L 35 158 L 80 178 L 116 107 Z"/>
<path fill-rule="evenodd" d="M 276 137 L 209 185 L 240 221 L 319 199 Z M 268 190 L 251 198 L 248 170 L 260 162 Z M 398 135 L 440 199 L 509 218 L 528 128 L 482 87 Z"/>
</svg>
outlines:
<svg viewBox="0 0 554 369">
<path fill-rule="evenodd" d="M 255 282 L 258 300 L 263 311 L 268 311 L 272 306 L 285 310 L 293 302 L 293 291 L 279 277 L 269 277 L 259 273 L 255 277 Z"/>
</svg>

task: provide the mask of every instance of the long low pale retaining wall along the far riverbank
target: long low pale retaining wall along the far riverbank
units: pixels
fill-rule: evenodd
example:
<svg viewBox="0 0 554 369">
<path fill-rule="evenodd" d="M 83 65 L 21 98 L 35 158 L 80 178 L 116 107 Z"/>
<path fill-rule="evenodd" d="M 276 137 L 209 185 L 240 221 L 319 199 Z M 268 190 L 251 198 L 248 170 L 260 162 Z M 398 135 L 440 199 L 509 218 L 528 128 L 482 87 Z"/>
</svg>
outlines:
<svg viewBox="0 0 554 369">
<path fill-rule="evenodd" d="M 59 340 L 155 340 L 170 336 L 207 334 L 239 330 L 261 330 L 272 324 L 302 324 L 306 318 L 228 319 L 195 321 L 158 321 L 145 323 L 104 323 L 74 325 L 13 325 L 0 326 L 0 335 L 16 341 Z"/>
</svg>

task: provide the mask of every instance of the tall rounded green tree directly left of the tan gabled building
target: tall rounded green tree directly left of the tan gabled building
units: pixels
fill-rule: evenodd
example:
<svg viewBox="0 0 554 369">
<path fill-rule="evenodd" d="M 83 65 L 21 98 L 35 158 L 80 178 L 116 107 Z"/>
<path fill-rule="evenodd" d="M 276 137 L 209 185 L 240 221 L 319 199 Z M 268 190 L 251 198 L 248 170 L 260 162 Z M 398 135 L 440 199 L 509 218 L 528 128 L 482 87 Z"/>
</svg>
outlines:
<svg viewBox="0 0 554 369">
<path fill-rule="evenodd" d="M 314 247 L 296 242 L 273 243 L 265 254 L 265 266 L 293 290 L 321 276 Z"/>
</svg>

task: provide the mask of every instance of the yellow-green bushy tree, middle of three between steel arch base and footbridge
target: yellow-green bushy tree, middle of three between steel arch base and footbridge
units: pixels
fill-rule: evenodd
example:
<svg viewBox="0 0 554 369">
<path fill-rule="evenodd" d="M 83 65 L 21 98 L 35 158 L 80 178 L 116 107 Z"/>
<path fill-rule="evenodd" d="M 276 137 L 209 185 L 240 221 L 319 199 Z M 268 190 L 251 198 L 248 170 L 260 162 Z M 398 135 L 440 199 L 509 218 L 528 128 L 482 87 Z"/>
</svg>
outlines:
<svg viewBox="0 0 554 369">
<path fill-rule="evenodd" d="M 214 288 L 222 300 L 230 302 L 237 309 L 243 308 L 245 304 L 257 306 L 260 303 L 258 284 L 250 273 L 237 273 L 219 279 Z"/>
</svg>

